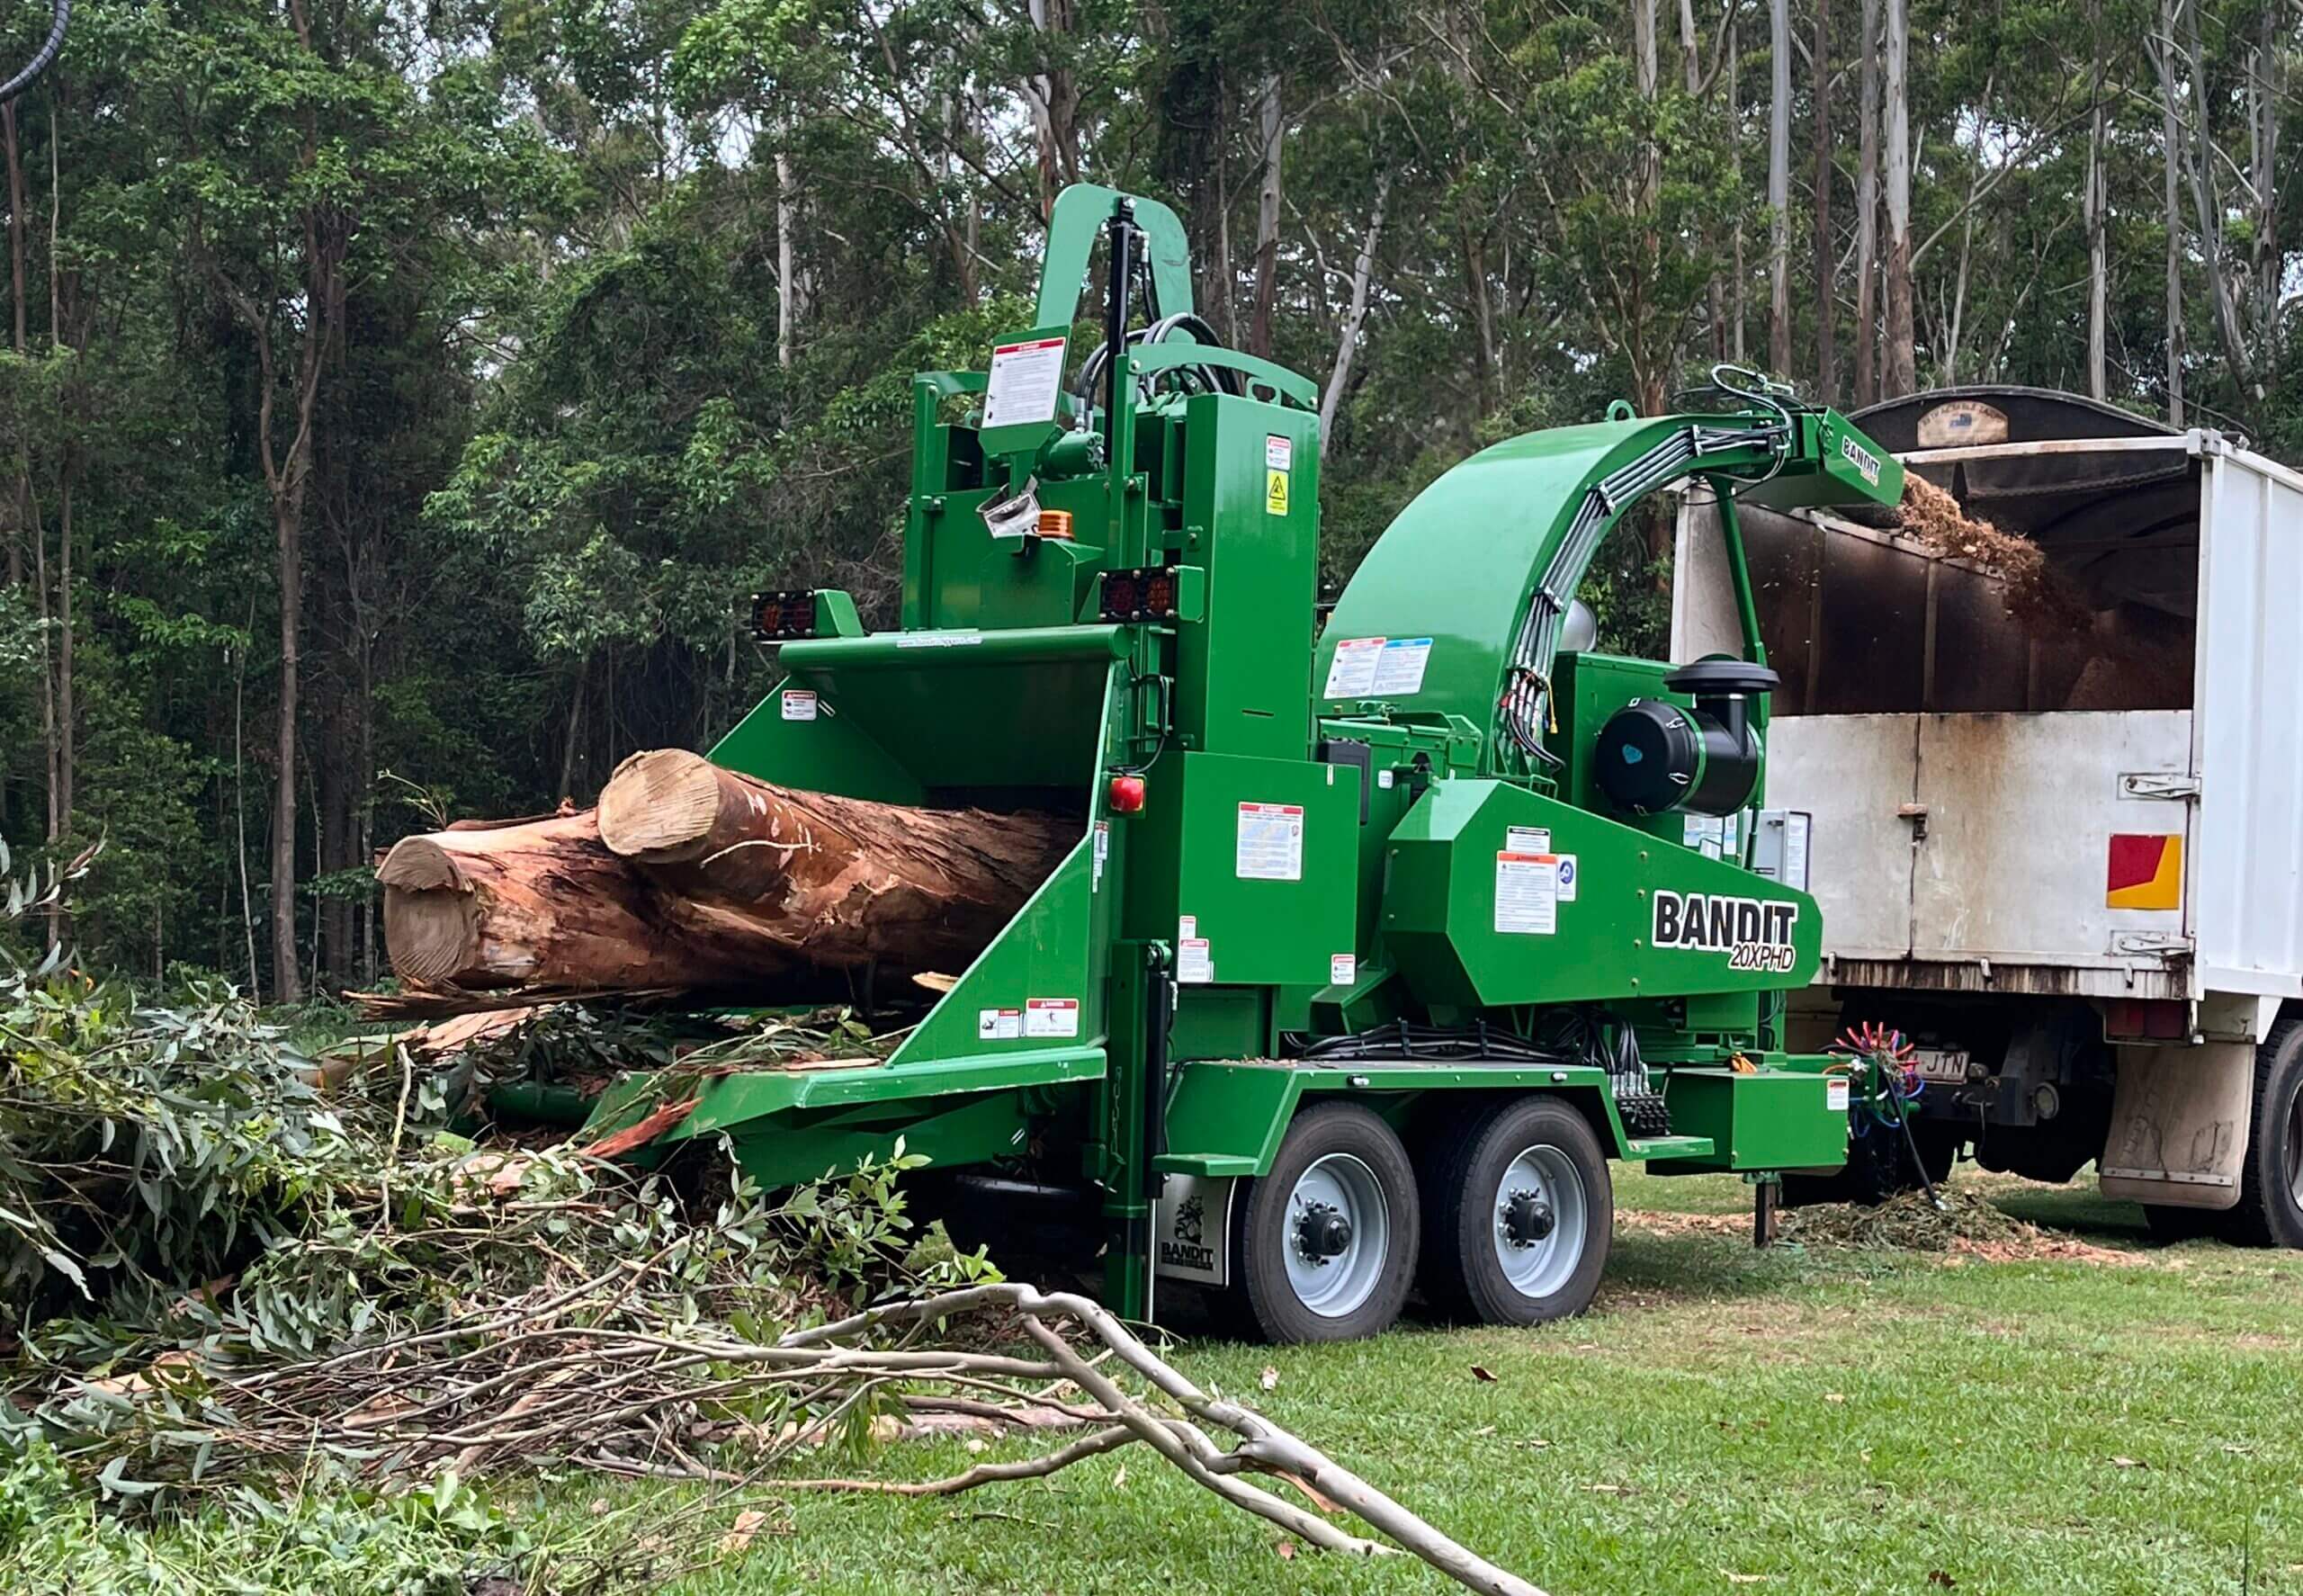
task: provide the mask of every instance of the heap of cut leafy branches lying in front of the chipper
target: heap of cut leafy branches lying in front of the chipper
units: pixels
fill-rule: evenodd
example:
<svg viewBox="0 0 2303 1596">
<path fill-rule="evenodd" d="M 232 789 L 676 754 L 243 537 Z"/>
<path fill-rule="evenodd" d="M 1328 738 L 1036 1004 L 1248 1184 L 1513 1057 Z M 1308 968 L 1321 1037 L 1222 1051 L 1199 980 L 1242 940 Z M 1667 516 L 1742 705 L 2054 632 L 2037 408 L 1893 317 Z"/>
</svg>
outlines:
<svg viewBox="0 0 2303 1596">
<path fill-rule="evenodd" d="M 640 1175 L 451 1128 L 507 1076 L 652 1064 L 679 1094 L 884 1050 L 852 1016 L 550 1011 L 444 1057 L 394 1039 L 309 1059 L 228 993 L 140 1009 L 25 979 L 12 1000 L 7 1260 L 39 1290 L 0 1366 L 0 1449 L 115 1506 L 316 1472 L 382 1492 L 587 1469 L 721 1502 L 947 1495 L 1149 1446 L 1303 1545 L 1534 1591 L 1096 1304 L 921 1234 L 917 1156 L 769 1200 L 707 1140 Z M 953 1430 L 1025 1444 L 935 1481 L 822 1469 Z"/>
</svg>

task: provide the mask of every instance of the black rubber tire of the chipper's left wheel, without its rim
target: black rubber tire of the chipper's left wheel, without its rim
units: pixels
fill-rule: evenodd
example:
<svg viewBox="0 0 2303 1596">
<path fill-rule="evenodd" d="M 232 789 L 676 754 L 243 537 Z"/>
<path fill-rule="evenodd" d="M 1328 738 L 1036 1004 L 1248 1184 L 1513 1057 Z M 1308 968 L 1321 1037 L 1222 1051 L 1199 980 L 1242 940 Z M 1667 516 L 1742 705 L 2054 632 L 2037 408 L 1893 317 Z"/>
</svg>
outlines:
<svg viewBox="0 0 2303 1596">
<path fill-rule="evenodd" d="M 1389 1209 L 1389 1251 L 1375 1290 L 1345 1315 L 1315 1313 L 1287 1283 L 1287 1193 L 1297 1179 L 1329 1154 L 1352 1154 L 1375 1175 Z M 1398 1133 L 1359 1103 L 1320 1103 L 1287 1124 L 1271 1172 L 1248 1181 L 1246 1207 L 1234 1237 L 1232 1297 L 1239 1320 L 1264 1340 L 1359 1340 L 1391 1329 L 1416 1278 L 1416 1244 L 1423 1218 L 1416 1172 Z"/>
</svg>

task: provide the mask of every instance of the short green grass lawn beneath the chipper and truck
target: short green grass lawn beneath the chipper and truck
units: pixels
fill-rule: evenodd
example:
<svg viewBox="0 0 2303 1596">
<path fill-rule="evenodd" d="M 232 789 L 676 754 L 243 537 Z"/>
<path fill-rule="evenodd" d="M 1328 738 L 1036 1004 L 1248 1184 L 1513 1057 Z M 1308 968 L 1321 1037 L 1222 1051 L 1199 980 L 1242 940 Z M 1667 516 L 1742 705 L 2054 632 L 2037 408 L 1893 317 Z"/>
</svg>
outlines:
<svg viewBox="0 0 2303 1596">
<path fill-rule="evenodd" d="M 1755 1253 L 1725 1221 L 1642 1221 L 1739 1214 L 1739 1181 L 1624 1175 L 1582 1320 L 1177 1361 L 1559 1594 L 2303 1591 L 2303 1257 L 2156 1248 L 2091 1191 L 1992 1191 L 2135 1257 Z M 877 1467 L 967 1462 L 905 1444 Z M 666 1495 L 585 1485 L 544 1511 L 606 1497 L 645 1518 Z M 1407 1559 L 1283 1557 L 1142 1449 L 956 1499 L 774 1513 L 679 1589 L 1453 1589 Z"/>
</svg>

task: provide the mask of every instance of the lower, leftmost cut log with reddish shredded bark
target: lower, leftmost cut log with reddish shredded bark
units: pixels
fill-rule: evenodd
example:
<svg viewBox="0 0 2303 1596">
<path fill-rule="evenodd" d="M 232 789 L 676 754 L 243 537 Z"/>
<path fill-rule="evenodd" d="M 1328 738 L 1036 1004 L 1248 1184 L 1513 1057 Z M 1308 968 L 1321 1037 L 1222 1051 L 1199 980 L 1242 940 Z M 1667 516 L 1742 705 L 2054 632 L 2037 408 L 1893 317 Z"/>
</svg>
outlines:
<svg viewBox="0 0 2303 1596">
<path fill-rule="evenodd" d="M 392 970 L 424 986 L 700 990 L 788 963 L 742 917 L 659 894 L 590 808 L 403 838 L 378 880 Z"/>
</svg>

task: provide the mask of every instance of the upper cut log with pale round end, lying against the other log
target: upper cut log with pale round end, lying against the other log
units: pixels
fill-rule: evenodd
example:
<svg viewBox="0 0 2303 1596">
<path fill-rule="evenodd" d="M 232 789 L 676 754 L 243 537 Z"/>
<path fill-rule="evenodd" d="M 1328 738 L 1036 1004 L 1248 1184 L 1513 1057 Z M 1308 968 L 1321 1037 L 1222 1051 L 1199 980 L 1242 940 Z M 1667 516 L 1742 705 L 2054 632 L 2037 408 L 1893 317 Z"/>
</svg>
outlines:
<svg viewBox="0 0 2303 1596">
<path fill-rule="evenodd" d="M 656 748 L 608 778 L 599 834 L 663 891 L 725 905 L 811 965 L 958 972 L 1080 829 L 1041 813 L 799 792 Z"/>
</svg>

